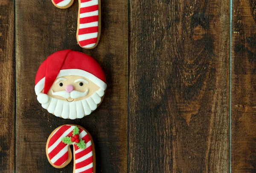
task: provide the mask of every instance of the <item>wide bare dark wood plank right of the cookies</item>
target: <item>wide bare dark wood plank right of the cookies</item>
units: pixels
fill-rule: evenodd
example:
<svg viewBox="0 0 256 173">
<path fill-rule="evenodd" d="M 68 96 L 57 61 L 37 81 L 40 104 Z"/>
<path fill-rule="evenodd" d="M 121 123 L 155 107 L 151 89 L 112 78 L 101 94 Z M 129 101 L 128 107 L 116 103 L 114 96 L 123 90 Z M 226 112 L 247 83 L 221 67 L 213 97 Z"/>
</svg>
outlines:
<svg viewBox="0 0 256 173">
<path fill-rule="evenodd" d="M 229 0 L 133 0 L 128 172 L 229 170 Z"/>
</svg>

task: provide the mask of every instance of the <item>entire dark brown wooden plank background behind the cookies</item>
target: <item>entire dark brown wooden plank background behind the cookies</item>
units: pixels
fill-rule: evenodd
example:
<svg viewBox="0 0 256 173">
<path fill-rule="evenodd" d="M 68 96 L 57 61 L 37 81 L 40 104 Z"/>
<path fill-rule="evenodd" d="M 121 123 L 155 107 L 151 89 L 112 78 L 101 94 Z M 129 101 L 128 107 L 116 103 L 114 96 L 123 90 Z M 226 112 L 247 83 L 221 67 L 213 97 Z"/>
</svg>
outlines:
<svg viewBox="0 0 256 173">
<path fill-rule="evenodd" d="M 72 123 L 92 135 L 99 173 L 255 173 L 256 0 L 101 3 L 99 45 L 85 50 L 78 1 L 0 0 L 0 172 L 72 172 L 45 154 L 49 134 Z M 82 119 L 36 100 L 37 69 L 61 49 L 91 55 L 107 78 L 104 101 Z"/>
</svg>

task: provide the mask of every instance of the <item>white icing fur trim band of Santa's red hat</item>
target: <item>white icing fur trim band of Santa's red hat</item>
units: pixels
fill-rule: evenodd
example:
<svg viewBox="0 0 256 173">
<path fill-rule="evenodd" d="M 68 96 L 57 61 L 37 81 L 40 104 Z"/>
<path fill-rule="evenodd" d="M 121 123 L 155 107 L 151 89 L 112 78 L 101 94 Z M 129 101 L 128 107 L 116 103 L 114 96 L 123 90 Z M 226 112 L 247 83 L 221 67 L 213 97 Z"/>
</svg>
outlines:
<svg viewBox="0 0 256 173">
<path fill-rule="evenodd" d="M 90 81 L 93 81 L 94 84 L 96 84 L 97 86 L 99 86 L 101 89 L 103 89 L 104 91 L 107 88 L 107 84 L 105 82 L 103 82 L 102 80 L 100 80 L 99 78 L 97 78 L 95 75 L 86 72 L 84 70 L 80 70 L 80 69 L 64 69 L 61 70 L 57 76 L 57 78 L 60 78 L 62 76 L 71 76 L 71 75 L 76 75 L 76 76 L 82 76 L 84 78 L 89 79 Z M 35 85 L 35 94 L 38 95 L 43 89 L 44 89 L 44 81 L 45 81 L 45 77 L 42 78 L 36 85 Z"/>
</svg>

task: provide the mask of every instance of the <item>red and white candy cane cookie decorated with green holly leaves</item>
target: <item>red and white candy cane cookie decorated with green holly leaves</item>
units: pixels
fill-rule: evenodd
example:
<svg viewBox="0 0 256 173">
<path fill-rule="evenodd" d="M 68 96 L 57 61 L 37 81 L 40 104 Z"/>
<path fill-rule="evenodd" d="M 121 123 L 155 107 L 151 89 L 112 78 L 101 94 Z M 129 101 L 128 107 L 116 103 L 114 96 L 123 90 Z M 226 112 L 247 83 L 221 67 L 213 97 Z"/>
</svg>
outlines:
<svg viewBox="0 0 256 173">
<path fill-rule="evenodd" d="M 83 127 L 66 124 L 55 129 L 46 144 L 48 161 L 53 167 L 63 168 L 72 160 L 73 173 L 95 173 L 95 150 L 92 137 Z"/>
</svg>

